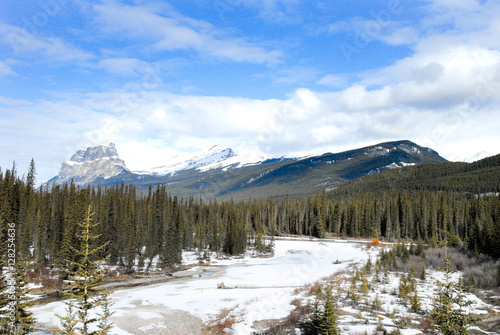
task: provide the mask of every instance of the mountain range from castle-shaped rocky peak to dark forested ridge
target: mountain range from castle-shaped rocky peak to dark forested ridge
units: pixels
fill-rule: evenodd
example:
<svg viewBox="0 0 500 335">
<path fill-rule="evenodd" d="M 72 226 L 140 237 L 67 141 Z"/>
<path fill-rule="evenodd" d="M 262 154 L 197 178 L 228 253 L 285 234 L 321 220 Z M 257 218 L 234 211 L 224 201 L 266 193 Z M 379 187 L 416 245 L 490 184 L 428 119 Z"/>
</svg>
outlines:
<svg viewBox="0 0 500 335">
<path fill-rule="evenodd" d="M 188 159 L 174 158 L 163 166 L 136 172 L 126 168 L 110 144 L 80 150 L 63 163 L 59 175 L 49 183 L 72 178 L 78 185 L 124 182 L 142 191 L 162 184 L 182 197 L 262 199 L 315 194 L 381 171 L 445 161 L 432 149 L 410 141 L 307 158 L 271 158 L 260 151 L 236 154 L 230 148 L 215 146 Z"/>
</svg>

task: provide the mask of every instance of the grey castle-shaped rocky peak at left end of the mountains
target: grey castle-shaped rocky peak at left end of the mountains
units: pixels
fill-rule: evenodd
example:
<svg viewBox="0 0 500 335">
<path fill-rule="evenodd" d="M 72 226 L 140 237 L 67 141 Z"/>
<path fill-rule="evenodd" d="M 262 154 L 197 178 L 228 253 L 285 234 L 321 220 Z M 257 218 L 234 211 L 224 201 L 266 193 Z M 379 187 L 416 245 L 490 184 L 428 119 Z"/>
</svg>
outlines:
<svg viewBox="0 0 500 335">
<path fill-rule="evenodd" d="M 48 183 L 64 184 L 73 180 L 76 185 L 81 186 L 126 172 L 129 170 L 125 162 L 118 157 L 115 145 L 110 143 L 78 150 L 69 161 L 62 163 L 59 174 Z"/>
</svg>

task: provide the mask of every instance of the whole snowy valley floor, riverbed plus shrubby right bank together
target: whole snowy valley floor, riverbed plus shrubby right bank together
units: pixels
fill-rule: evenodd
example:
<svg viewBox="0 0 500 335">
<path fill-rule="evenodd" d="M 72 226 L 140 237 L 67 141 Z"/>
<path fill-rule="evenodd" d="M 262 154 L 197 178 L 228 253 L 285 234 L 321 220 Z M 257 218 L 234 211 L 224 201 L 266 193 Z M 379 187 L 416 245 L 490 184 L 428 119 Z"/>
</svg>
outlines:
<svg viewBox="0 0 500 335">
<path fill-rule="evenodd" d="M 112 334 L 252 334 L 278 324 L 299 306 L 311 302 L 311 292 L 319 284 L 338 284 L 339 321 L 342 334 L 372 334 L 377 326 L 391 331 L 401 328 L 405 335 L 421 333 L 423 313 L 412 313 L 395 292 L 399 278 L 390 274 L 370 287 L 353 304 L 346 296 L 349 276 L 381 247 L 367 248 L 352 241 L 279 239 L 272 257 L 214 259 L 198 264 L 195 253 L 184 253 L 183 263 L 194 265 L 174 274 L 168 282 L 117 289 L 112 295 Z M 422 310 L 428 309 L 435 292 L 435 279 L 441 274 L 429 272 L 419 282 Z M 476 297 L 475 313 L 500 312 Z M 377 306 L 374 307 L 375 301 Z M 63 302 L 32 308 L 38 327 L 58 327 L 56 314 L 65 315 Z M 493 333 L 491 333 L 493 334 Z"/>
</svg>

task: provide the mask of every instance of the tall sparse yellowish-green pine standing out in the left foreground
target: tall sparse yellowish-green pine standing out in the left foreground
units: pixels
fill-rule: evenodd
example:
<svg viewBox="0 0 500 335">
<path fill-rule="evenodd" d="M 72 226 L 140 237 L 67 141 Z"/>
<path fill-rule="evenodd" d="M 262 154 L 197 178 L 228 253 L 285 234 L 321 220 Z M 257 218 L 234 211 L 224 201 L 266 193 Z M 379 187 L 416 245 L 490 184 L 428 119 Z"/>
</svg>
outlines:
<svg viewBox="0 0 500 335">
<path fill-rule="evenodd" d="M 65 327 L 62 330 L 63 334 L 71 334 L 76 330 L 74 334 L 104 335 L 108 334 L 111 328 L 108 322 L 109 293 L 98 288 L 103 278 L 99 266 L 105 259 L 95 260 L 95 258 L 105 245 L 93 246 L 93 241 L 99 238 L 99 235 L 93 233 L 96 226 L 97 224 L 92 222 L 91 206 L 89 206 L 85 221 L 78 223 L 80 243 L 77 247 L 71 247 L 77 261 L 69 261 L 76 270 L 69 271 L 72 290 L 64 292 L 71 298 L 66 303 L 66 316 L 58 315 Z M 104 306 L 104 312 L 95 316 L 93 312 L 100 306 Z M 105 327 L 91 330 L 93 325 L 98 327 L 105 325 Z"/>
</svg>

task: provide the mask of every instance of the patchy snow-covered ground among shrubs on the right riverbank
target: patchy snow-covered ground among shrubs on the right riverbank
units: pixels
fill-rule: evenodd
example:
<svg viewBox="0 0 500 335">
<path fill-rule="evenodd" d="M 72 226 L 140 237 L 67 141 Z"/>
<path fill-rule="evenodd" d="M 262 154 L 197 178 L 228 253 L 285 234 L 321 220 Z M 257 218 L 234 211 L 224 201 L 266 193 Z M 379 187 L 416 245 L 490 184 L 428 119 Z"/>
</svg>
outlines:
<svg viewBox="0 0 500 335">
<path fill-rule="evenodd" d="M 380 276 L 375 279 L 375 271 L 367 276 L 369 292 L 361 293 L 361 282 L 358 287 L 358 301 L 353 303 L 348 298 L 347 292 L 350 290 L 352 275 L 343 275 L 340 292 L 336 291 L 337 311 L 339 314 L 339 327 L 342 334 L 360 335 L 375 334 L 377 327 L 382 326 L 386 331 L 392 332 L 399 329 L 402 335 L 422 334 L 421 322 L 427 319 L 433 308 L 433 299 L 437 295 L 438 286 L 436 282 L 445 280 L 444 273 L 436 270 L 427 270 L 426 279 L 415 279 L 416 291 L 418 292 L 420 309 L 414 312 L 411 309 L 410 298 L 402 299 L 399 294 L 399 285 L 405 273 L 389 273 L 386 278 Z M 457 282 L 460 273 L 452 275 L 452 280 Z M 311 301 L 311 297 L 309 300 Z M 471 293 L 465 294 L 465 299 L 471 305 L 464 308 L 464 312 L 480 315 L 490 312 L 500 312 L 498 306 L 489 305 Z M 375 301 L 378 301 L 375 307 Z M 485 334 L 496 334 L 487 333 Z"/>
</svg>

